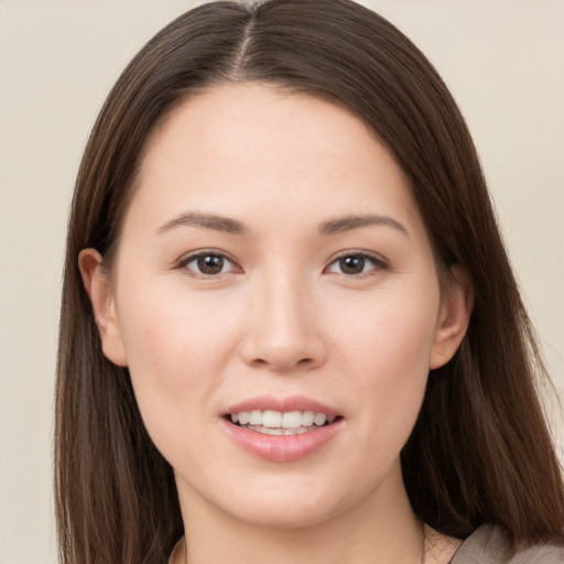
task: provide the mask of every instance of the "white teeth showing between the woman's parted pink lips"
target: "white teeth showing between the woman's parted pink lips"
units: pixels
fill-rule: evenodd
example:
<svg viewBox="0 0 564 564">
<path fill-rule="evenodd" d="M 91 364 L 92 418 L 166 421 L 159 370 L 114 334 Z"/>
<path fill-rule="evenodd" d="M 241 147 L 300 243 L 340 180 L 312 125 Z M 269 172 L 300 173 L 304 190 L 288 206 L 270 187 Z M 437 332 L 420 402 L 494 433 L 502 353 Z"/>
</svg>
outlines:
<svg viewBox="0 0 564 564">
<path fill-rule="evenodd" d="M 268 434 L 276 435 L 283 435 L 284 430 L 300 430 L 300 432 L 305 432 L 310 429 L 321 427 L 325 425 L 325 423 L 333 423 L 335 419 L 335 415 L 315 413 L 313 411 L 288 411 L 282 413 L 272 410 L 252 410 L 231 413 L 231 421 L 234 423 L 239 423 L 241 426 L 274 430 L 273 433 Z"/>
</svg>

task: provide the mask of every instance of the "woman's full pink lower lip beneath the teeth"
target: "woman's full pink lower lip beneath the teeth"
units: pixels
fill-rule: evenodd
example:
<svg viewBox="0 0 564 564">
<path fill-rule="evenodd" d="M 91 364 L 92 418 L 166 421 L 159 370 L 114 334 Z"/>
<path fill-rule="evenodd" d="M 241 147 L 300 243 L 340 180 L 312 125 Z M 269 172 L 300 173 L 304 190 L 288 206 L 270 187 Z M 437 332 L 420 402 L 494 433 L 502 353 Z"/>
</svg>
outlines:
<svg viewBox="0 0 564 564">
<path fill-rule="evenodd" d="M 265 435 L 221 420 L 230 437 L 246 452 L 274 463 L 291 463 L 311 456 L 343 427 L 343 419 L 299 435 Z"/>
</svg>

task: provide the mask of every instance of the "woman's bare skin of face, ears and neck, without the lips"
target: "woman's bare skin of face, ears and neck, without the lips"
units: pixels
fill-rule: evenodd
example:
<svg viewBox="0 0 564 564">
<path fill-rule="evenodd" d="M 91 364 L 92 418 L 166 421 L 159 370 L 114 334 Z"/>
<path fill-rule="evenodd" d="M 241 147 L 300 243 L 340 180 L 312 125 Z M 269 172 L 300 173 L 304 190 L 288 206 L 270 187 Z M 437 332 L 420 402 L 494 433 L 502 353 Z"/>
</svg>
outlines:
<svg viewBox="0 0 564 564">
<path fill-rule="evenodd" d="M 129 367 L 175 471 L 187 542 L 172 562 L 420 562 L 399 456 L 430 368 L 464 336 L 471 290 L 456 270 L 441 294 L 391 153 L 336 105 L 227 85 L 159 126 L 134 189 L 110 274 L 95 249 L 79 265 L 104 351 Z M 186 213 L 245 234 L 184 225 Z M 388 219 L 319 232 L 367 214 Z M 202 251 L 228 259 L 220 273 L 198 271 Z M 360 251 L 362 272 L 344 271 Z M 303 459 L 256 457 L 220 420 L 263 393 L 315 399 L 341 426 Z M 458 542 L 427 534 L 427 564 L 448 562 Z"/>
</svg>

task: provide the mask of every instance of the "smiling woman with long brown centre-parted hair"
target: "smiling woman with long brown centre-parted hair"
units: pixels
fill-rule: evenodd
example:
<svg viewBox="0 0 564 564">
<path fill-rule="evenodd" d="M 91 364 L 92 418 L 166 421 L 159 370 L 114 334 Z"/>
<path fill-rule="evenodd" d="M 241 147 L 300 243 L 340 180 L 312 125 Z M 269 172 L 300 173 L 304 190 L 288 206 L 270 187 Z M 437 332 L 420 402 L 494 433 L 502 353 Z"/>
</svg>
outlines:
<svg viewBox="0 0 564 564">
<path fill-rule="evenodd" d="M 68 231 L 63 562 L 562 562 L 542 373 L 464 120 L 386 20 L 210 3 L 130 63 Z"/>
</svg>

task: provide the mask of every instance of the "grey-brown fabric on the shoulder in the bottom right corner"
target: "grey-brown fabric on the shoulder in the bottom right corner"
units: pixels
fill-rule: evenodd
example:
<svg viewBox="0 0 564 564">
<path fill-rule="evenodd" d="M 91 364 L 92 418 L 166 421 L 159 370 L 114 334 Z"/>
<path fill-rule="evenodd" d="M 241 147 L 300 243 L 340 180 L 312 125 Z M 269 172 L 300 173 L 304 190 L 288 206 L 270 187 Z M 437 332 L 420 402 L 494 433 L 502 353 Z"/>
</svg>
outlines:
<svg viewBox="0 0 564 564">
<path fill-rule="evenodd" d="M 541 542 L 511 551 L 501 527 L 481 525 L 464 541 L 452 564 L 562 564 L 564 545 Z"/>
</svg>

